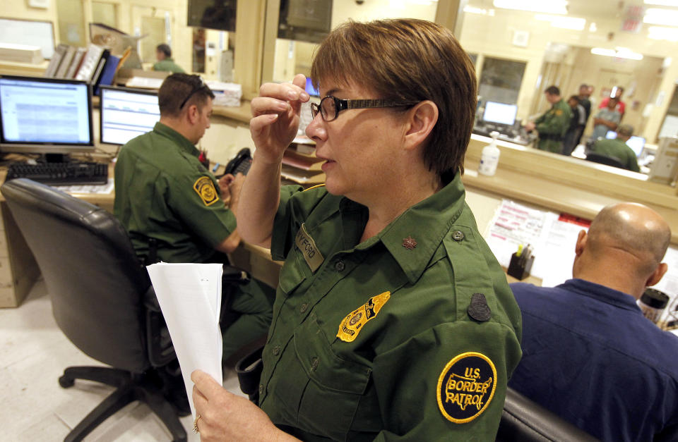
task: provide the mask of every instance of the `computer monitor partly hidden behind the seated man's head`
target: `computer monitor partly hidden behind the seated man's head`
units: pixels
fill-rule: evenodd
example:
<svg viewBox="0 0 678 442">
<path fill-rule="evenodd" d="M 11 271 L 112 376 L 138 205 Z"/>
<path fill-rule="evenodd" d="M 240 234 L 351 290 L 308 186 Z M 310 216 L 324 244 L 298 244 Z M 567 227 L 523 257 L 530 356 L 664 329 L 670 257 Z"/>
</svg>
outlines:
<svg viewBox="0 0 678 442">
<path fill-rule="evenodd" d="M 100 140 L 124 145 L 133 137 L 153 130 L 160 120 L 157 92 L 126 87 L 101 87 Z"/>
</svg>

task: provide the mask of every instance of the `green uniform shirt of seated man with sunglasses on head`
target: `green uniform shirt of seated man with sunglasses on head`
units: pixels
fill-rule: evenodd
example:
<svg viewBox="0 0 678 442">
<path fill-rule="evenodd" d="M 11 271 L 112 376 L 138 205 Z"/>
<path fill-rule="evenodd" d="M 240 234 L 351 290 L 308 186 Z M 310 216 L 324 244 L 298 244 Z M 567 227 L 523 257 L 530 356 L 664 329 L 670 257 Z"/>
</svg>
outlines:
<svg viewBox="0 0 678 442">
<path fill-rule="evenodd" d="M 236 228 L 198 149 L 162 123 L 130 140 L 115 165 L 115 216 L 137 254 L 157 240 L 164 262 L 206 262 Z"/>
</svg>

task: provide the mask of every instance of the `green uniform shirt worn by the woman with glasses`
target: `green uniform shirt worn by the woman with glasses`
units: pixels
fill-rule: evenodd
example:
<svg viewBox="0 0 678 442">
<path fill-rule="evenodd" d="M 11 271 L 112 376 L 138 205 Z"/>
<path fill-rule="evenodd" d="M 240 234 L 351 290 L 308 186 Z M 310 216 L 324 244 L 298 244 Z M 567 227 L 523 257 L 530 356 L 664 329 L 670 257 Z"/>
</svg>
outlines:
<svg viewBox="0 0 678 442">
<path fill-rule="evenodd" d="M 299 190 L 275 217 L 261 408 L 306 441 L 494 440 L 521 312 L 460 177 L 364 243 L 366 207 Z"/>
</svg>

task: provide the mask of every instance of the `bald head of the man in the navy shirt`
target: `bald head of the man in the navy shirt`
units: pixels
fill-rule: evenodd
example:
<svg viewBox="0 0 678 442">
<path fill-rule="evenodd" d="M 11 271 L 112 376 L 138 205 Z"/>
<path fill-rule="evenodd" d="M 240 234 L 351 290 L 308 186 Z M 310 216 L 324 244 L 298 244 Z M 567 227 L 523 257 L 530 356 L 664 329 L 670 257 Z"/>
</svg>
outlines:
<svg viewBox="0 0 678 442">
<path fill-rule="evenodd" d="M 639 276 L 651 273 L 662 261 L 671 241 L 671 229 L 653 209 L 642 204 L 620 203 L 607 206 L 593 219 L 588 246 L 595 255 L 619 250 L 636 257 Z M 602 257 L 602 256 L 599 256 Z"/>
</svg>

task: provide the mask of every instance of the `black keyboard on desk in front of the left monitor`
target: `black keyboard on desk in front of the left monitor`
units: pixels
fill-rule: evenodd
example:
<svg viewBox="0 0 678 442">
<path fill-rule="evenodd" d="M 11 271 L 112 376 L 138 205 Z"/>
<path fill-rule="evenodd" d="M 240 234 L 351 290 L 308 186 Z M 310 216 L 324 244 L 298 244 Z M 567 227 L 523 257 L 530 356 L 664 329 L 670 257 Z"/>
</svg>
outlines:
<svg viewBox="0 0 678 442">
<path fill-rule="evenodd" d="M 104 163 L 41 163 L 10 164 L 6 180 L 30 178 L 48 185 L 78 185 L 108 183 L 108 164 Z"/>
</svg>

